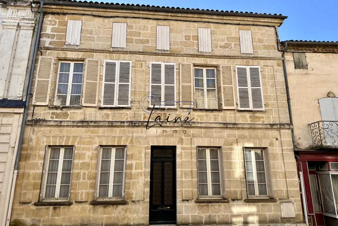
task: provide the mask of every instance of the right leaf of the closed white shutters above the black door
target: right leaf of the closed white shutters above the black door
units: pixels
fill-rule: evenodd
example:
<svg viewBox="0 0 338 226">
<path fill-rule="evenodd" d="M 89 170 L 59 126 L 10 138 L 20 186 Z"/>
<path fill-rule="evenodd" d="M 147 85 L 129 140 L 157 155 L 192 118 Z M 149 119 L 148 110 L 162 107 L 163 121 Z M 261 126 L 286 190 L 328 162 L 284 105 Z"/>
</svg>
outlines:
<svg viewBox="0 0 338 226">
<path fill-rule="evenodd" d="M 176 107 L 176 63 L 163 63 L 164 106 Z"/>
</svg>

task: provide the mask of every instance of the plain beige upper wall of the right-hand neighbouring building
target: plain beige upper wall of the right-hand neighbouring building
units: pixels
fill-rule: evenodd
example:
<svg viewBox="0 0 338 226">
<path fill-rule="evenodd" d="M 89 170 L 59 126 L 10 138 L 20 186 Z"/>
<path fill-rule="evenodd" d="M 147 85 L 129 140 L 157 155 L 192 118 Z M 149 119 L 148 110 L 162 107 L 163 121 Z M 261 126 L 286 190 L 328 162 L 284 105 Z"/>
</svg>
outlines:
<svg viewBox="0 0 338 226">
<path fill-rule="evenodd" d="M 338 95 L 338 55 L 305 53 L 308 69 L 295 69 L 292 53 L 286 54 L 292 119 L 297 147 L 312 144 L 310 123 L 321 121 L 318 99 L 331 91 Z"/>
</svg>

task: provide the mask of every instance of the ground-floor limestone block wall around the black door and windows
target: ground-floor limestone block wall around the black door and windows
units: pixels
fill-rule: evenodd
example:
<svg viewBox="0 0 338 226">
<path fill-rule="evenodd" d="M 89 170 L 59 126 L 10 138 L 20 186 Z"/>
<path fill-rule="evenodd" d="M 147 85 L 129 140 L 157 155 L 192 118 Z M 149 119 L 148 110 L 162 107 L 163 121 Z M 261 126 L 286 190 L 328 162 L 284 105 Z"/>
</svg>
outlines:
<svg viewBox="0 0 338 226">
<path fill-rule="evenodd" d="M 37 122 L 35 122 L 37 123 Z M 11 221 L 21 225 L 147 225 L 150 148 L 176 146 L 177 224 L 301 223 L 301 202 L 291 132 L 271 128 L 60 127 L 28 122 L 22 147 Z M 201 126 L 201 125 L 200 125 Z M 177 133 L 171 131 L 175 129 Z M 183 130 L 186 132 L 184 133 Z M 278 141 L 275 139 L 278 138 Z M 93 206 L 98 145 L 127 145 L 126 205 Z M 75 145 L 71 206 L 34 206 L 40 196 L 46 145 Z M 222 147 L 229 203 L 196 203 L 196 146 Z M 246 203 L 243 147 L 265 147 L 270 154 L 272 203 Z M 280 202 L 295 204 L 296 218 L 281 218 Z"/>
</svg>

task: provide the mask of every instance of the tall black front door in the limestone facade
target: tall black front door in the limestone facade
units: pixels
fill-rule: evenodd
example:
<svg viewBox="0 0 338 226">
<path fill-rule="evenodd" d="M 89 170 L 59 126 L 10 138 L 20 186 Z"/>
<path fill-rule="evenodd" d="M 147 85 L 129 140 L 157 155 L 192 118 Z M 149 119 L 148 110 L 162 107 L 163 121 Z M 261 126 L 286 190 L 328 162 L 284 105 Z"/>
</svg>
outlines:
<svg viewBox="0 0 338 226">
<path fill-rule="evenodd" d="M 175 156 L 175 147 L 151 147 L 149 224 L 176 223 Z"/>
</svg>

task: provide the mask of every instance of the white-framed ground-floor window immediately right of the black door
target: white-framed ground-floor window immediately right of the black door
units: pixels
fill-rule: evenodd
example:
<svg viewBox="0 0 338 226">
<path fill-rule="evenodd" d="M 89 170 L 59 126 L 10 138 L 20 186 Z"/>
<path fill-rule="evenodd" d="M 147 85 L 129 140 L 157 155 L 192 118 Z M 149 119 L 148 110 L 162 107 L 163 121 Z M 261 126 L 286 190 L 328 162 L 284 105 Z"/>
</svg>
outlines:
<svg viewBox="0 0 338 226">
<path fill-rule="evenodd" d="M 198 147 L 197 170 L 199 197 L 223 197 L 222 156 L 219 148 Z"/>
</svg>

